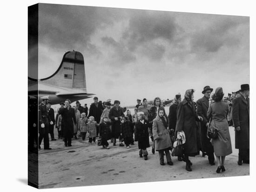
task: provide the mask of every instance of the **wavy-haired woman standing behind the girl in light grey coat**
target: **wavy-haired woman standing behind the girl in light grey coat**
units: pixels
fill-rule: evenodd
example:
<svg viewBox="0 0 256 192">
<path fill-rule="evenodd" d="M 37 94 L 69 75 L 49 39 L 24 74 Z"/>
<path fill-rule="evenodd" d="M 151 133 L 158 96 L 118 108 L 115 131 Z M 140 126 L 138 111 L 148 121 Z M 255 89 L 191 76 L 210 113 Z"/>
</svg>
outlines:
<svg viewBox="0 0 256 192">
<path fill-rule="evenodd" d="M 151 138 L 151 141 L 153 142 L 153 144 L 152 144 L 152 154 L 155 154 L 155 141 L 154 141 L 154 138 L 153 138 L 152 125 L 153 125 L 153 120 L 157 116 L 157 111 L 160 107 L 162 107 L 161 99 L 159 97 L 155 97 L 155 99 L 153 101 L 153 106 L 151 106 L 149 108 L 149 111 L 148 111 L 148 122 L 149 122 L 150 138 Z"/>
</svg>

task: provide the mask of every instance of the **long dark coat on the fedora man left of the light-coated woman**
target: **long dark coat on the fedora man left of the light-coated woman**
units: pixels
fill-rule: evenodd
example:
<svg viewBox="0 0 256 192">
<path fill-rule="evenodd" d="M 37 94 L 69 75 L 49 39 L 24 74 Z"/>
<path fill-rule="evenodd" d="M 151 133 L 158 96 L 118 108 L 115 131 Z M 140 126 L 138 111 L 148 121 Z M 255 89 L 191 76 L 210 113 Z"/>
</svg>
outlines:
<svg viewBox="0 0 256 192">
<path fill-rule="evenodd" d="M 207 137 L 207 127 L 206 127 L 206 123 L 209 122 L 209 119 L 207 117 L 209 100 L 208 98 L 203 96 L 201 99 L 197 100 L 196 105 L 197 105 L 197 115 L 202 117 L 202 122 L 200 122 L 202 150 L 203 152 L 206 152 L 206 153 L 213 153 L 213 146 L 210 142 L 210 139 Z"/>
</svg>

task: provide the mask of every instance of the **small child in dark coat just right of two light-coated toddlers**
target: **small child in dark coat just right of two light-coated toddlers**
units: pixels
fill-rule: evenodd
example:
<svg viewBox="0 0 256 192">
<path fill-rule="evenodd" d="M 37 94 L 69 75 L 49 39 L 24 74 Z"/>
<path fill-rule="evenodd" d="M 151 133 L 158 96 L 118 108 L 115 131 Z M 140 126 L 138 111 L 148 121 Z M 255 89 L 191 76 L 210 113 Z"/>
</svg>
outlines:
<svg viewBox="0 0 256 192">
<path fill-rule="evenodd" d="M 103 148 L 109 149 L 108 140 L 111 139 L 111 122 L 109 122 L 108 116 L 103 117 L 103 122 L 100 124 L 99 134 L 101 137 L 101 145 Z"/>
</svg>

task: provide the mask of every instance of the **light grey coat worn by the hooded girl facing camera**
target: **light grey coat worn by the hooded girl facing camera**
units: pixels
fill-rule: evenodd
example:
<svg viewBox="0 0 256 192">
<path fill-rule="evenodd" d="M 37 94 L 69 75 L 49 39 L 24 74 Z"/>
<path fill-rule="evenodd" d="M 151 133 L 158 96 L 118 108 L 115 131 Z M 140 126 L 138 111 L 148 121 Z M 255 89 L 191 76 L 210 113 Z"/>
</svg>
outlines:
<svg viewBox="0 0 256 192">
<path fill-rule="evenodd" d="M 167 122 L 167 118 L 164 117 L 165 121 Z M 155 150 L 159 151 L 162 149 L 171 149 L 172 142 L 169 131 L 167 128 L 164 127 L 162 119 L 159 115 L 155 117 L 153 120 L 153 137 L 155 140 Z M 157 140 L 160 138 L 160 140 Z"/>
</svg>

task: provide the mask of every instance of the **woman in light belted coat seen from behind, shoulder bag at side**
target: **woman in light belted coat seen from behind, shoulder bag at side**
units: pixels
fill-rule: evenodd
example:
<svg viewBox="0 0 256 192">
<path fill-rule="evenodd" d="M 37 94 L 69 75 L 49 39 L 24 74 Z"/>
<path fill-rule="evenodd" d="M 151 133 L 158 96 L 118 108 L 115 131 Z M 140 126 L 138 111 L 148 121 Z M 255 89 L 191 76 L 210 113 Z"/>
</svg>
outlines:
<svg viewBox="0 0 256 192">
<path fill-rule="evenodd" d="M 229 105 L 222 101 L 223 96 L 222 88 L 218 87 L 212 95 L 212 100 L 209 101 L 207 112 L 208 118 L 211 118 L 209 126 L 217 129 L 217 137 L 211 140 L 218 163 L 217 173 L 220 173 L 221 170 L 222 172 L 225 171 L 225 157 L 232 153 L 229 123 L 227 120 Z"/>
</svg>

